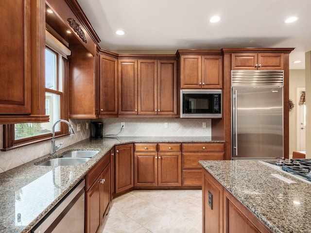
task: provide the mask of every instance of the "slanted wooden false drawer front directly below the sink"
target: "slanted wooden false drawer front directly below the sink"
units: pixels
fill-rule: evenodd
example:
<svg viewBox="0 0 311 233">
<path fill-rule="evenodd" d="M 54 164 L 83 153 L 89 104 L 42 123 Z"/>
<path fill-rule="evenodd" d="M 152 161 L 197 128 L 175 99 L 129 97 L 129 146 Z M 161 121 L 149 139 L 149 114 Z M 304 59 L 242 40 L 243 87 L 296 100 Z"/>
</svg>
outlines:
<svg viewBox="0 0 311 233">
<path fill-rule="evenodd" d="M 101 160 L 86 174 L 86 191 L 96 181 L 104 168 L 110 163 L 110 150 Z"/>
</svg>

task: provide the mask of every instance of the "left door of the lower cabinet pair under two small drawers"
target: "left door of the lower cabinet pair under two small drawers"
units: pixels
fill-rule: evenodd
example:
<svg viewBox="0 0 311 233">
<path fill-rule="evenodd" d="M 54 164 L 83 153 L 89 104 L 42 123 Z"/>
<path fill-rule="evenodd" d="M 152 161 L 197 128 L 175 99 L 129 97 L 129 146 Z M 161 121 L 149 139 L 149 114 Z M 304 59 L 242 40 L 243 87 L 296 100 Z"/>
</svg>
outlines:
<svg viewBox="0 0 311 233">
<path fill-rule="evenodd" d="M 134 153 L 134 186 L 157 186 L 157 153 Z"/>
</svg>

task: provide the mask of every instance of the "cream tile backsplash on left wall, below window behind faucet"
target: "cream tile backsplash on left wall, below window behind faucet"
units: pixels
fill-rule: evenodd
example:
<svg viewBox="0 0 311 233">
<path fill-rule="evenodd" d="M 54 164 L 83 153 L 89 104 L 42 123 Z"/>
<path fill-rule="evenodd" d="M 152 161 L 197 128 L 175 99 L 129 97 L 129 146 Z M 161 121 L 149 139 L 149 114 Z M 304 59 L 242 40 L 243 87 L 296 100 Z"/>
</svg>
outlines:
<svg viewBox="0 0 311 233">
<path fill-rule="evenodd" d="M 63 136 L 55 139 L 55 144 L 63 142 L 62 148 L 84 140 L 90 136 L 90 130 L 86 130 L 86 124 L 90 119 L 70 119 L 74 135 Z M 81 131 L 77 131 L 77 124 L 81 124 Z M 2 148 L 2 125 L 0 125 L 0 147 Z M 51 152 L 51 140 L 35 143 L 30 146 L 21 147 L 15 150 L 0 151 L 0 173 L 16 166 L 28 163 Z"/>
</svg>

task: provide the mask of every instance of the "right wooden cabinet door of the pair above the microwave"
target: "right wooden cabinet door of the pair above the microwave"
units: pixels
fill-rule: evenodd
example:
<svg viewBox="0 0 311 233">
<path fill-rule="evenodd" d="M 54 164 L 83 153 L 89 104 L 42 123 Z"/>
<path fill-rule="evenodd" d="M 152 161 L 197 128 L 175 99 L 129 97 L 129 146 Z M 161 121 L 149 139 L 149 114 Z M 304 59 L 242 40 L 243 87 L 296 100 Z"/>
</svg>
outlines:
<svg viewBox="0 0 311 233">
<path fill-rule="evenodd" d="M 202 89 L 223 87 L 223 56 L 202 57 Z"/>
</svg>

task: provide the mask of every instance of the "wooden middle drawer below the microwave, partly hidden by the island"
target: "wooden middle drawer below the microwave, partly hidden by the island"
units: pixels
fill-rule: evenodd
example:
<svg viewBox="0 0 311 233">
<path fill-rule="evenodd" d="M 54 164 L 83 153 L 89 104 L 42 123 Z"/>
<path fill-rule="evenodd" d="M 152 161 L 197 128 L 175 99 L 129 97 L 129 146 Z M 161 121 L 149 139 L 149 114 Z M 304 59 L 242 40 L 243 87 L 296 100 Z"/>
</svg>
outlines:
<svg viewBox="0 0 311 233">
<path fill-rule="evenodd" d="M 200 160 L 224 160 L 225 153 L 214 152 L 214 153 L 182 153 L 182 168 L 185 169 L 198 169 L 202 165 L 199 164 Z"/>
</svg>

